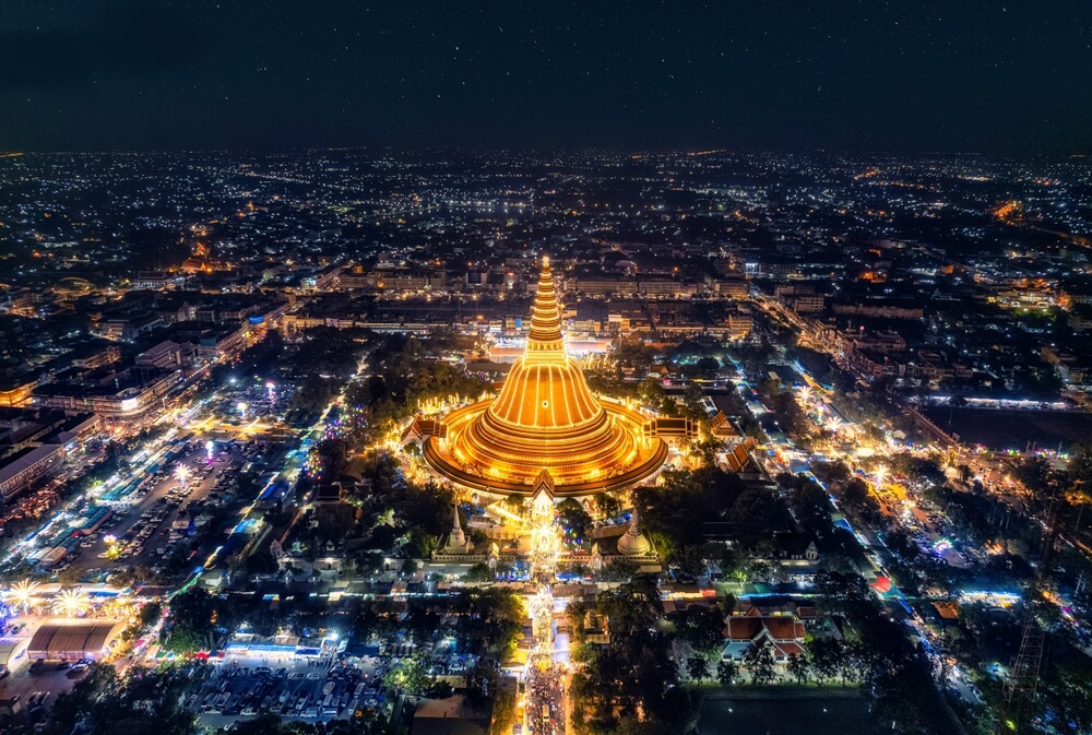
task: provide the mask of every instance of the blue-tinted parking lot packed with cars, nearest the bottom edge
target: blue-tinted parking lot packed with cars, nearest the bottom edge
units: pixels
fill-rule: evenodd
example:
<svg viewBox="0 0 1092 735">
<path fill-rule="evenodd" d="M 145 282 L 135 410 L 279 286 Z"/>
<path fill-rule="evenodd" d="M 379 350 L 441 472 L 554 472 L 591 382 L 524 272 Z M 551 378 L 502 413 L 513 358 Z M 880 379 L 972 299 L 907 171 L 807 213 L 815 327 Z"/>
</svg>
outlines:
<svg viewBox="0 0 1092 735">
<path fill-rule="evenodd" d="M 223 726 L 262 713 L 344 719 L 382 701 L 381 679 L 367 662 L 233 660 L 187 695 L 185 706 L 200 715 L 202 725 Z"/>
</svg>

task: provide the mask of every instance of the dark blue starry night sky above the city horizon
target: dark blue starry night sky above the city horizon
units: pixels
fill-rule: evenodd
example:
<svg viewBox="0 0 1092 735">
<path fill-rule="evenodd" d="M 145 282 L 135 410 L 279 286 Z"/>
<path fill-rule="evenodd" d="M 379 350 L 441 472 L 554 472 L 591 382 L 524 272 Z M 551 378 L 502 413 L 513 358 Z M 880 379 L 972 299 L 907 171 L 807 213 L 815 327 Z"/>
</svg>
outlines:
<svg viewBox="0 0 1092 735">
<path fill-rule="evenodd" d="M 1092 0 L 0 3 L 0 149 L 310 145 L 1092 153 Z"/>
</svg>

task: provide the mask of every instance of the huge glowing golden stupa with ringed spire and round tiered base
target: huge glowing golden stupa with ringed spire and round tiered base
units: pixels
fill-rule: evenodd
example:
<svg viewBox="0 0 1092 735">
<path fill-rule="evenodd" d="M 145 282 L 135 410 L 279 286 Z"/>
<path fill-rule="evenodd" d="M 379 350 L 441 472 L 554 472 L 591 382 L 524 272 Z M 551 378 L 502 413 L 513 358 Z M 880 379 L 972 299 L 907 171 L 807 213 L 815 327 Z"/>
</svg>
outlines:
<svg viewBox="0 0 1092 735">
<path fill-rule="evenodd" d="M 544 258 L 527 346 L 500 395 L 449 414 L 423 453 L 436 472 L 475 490 L 531 495 L 545 471 L 556 495 L 580 496 L 632 485 L 660 469 L 667 446 L 649 422 L 587 389 L 566 354 Z"/>
</svg>

